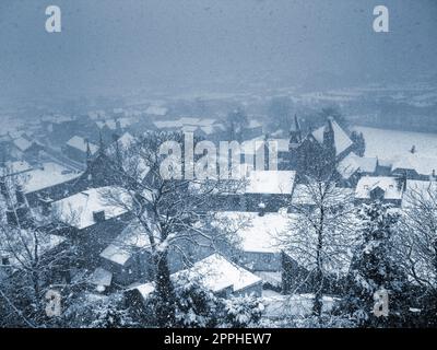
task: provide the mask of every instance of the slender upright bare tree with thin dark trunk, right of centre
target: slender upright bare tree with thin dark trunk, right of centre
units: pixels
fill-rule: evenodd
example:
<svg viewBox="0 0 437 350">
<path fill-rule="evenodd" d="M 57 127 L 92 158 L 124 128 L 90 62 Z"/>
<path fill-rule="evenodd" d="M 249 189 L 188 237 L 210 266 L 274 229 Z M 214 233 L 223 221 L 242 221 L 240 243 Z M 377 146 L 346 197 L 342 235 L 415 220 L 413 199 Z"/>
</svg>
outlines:
<svg viewBox="0 0 437 350">
<path fill-rule="evenodd" d="M 304 178 L 297 185 L 291 210 L 295 213 L 281 245 L 308 275 L 315 292 L 312 312 L 320 316 L 327 280 L 347 272 L 355 246 L 355 209 L 350 189 L 335 186 L 335 176 Z M 299 284 L 296 290 L 302 287 Z"/>
</svg>

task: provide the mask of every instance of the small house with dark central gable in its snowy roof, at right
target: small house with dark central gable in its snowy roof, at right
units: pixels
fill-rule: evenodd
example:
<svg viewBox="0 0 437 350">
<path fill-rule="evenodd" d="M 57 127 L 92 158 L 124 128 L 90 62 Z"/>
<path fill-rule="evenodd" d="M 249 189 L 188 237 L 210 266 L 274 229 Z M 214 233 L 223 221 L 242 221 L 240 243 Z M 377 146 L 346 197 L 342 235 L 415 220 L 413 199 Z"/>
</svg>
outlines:
<svg viewBox="0 0 437 350">
<path fill-rule="evenodd" d="M 400 207 L 404 186 L 404 182 L 397 177 L 364 176 L 356 185 L 355 200 L 357 203 L 379 200 Z"/>
</svg>

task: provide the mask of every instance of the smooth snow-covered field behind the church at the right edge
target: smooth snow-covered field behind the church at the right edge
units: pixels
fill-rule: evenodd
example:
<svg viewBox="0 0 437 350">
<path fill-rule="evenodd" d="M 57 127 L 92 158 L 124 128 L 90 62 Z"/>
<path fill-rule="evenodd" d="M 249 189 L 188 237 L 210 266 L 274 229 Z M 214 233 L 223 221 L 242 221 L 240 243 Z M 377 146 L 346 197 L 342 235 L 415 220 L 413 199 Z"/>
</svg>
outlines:
<svg viewBox="0 0 437 350">
<path fill-rule="evenodd" d="M 392 160 L 409 153 L 415 145 L 416 154 L 423 158 L 437 158 L 437 133 L 398 131 L 355 127 L 366 140 L 366 156 Z"/>
</svg>

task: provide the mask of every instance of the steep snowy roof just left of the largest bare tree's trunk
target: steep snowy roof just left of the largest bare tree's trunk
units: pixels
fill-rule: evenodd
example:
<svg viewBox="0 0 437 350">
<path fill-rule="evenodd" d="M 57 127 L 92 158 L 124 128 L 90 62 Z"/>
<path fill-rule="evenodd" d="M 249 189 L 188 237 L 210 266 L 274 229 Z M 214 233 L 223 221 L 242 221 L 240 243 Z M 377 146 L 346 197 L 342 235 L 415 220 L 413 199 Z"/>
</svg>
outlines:
<svg viewBox="0 0 437 350">
<path fill-rule="evenodd" d="M 147 234 L 134 220 L 101 253 L 101 257 L 123 266 L 135 252 L 149 247 Z"/>
</svg>

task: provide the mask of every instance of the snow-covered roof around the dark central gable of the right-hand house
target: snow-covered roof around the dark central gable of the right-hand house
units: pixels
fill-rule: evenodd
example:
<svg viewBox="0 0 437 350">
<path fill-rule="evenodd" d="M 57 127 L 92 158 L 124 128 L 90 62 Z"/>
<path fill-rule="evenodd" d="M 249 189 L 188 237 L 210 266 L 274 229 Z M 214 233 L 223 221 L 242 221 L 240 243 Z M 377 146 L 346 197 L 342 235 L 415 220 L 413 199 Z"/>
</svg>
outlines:
<svg viewBox="0 0 437 350">
<path fill-rule="evenodd" d="M 358 180 L 355 190 L 355 198 L 369 199 L 370 192 L 380 188 L 385 191 L 385 199 L 402 199 L 402 188 L 395 177 L 388 176 L 364 176 Z"/>
</svg>

